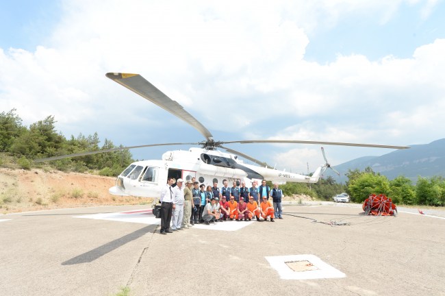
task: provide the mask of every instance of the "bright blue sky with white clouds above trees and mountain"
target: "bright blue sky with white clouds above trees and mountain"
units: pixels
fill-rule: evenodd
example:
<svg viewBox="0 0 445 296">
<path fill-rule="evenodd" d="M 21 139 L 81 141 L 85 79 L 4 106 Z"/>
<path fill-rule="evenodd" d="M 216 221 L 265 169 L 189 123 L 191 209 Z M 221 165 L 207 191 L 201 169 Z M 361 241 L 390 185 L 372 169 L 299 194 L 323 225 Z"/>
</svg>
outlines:
<svg viewBox="0 0 445 296">
<path fill-rule="evenodd" d="M 98 132 L 126 146 L 202 140 L 105 77 L 128 72 L 217 140 L 444 137 L 444 1 L 35 2 L 0 2 L 1 111 L 16 108 L 26 125 L 54 115 L 66 137 Z M 231 148 L 288 171 L 323 162 L 317 145 Z M 325 149 L 332 164 L 390 152 Z"/>
</svg>

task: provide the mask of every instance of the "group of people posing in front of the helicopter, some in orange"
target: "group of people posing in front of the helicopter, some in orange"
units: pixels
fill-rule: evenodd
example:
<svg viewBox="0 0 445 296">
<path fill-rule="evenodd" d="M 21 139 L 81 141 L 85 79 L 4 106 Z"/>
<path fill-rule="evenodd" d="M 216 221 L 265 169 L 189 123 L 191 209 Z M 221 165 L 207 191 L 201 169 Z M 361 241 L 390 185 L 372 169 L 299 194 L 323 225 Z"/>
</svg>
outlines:
<svg viewBox="0 0 445 296">
<path fill-rule="evenodd" d="M 173 187 L 173 184 L 176 186 Z M 185 183 L 185 185 L 184 185 Z M 192 227 L 199 223 L 215 223 L 227 220 L 275 222 L 275 216 L 283 219 L 281 198 L 283 191 L 275 183 L 273 188 L 266 185 L 266 180 L 257 187 L 247 188 L 245 182 L 229 187 L 227 180 L 223 180 L 223 187 L 218 188 L 199 185 L 194 178 L 184 182 L 168 177 L 167 184 L 161 190 L 161 234 L 173 233 L 177 230 Z M 270 201 L 272 199 L 272 201 Z M 171 229 L 170 229 L 171 222 Z"/>
</svg>

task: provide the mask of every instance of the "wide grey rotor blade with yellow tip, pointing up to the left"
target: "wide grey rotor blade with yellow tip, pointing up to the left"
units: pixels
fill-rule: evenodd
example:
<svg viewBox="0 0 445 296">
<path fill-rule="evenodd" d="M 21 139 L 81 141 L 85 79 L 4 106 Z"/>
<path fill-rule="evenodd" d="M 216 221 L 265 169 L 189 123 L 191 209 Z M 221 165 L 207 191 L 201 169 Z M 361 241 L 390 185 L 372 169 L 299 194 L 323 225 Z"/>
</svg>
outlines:
<svg viewBox="0 0 445 296">
<path fill-rule="evenodd" d="M 213 141 L 213 136 L 210 134 L 209 130 L 204 127 L 199 121 L 197 121 L 190 113 L 188 113 L 184 108 L 167 97 L 161 90 L 157 89 L 153 84 L 148 82 L 144 77 L 139 74 L 128 74 L 128 73 L 107 73 L 106 76 L 120 85 L 125 86 L 129 90 L 133 90 L 144 99 L 155 103 L 162 109 L 170 112 L 171 114 L 179 117 L 186 123 L 192 125 L 196 130 L 198 130 L 209 142 Z"/>
</svg>

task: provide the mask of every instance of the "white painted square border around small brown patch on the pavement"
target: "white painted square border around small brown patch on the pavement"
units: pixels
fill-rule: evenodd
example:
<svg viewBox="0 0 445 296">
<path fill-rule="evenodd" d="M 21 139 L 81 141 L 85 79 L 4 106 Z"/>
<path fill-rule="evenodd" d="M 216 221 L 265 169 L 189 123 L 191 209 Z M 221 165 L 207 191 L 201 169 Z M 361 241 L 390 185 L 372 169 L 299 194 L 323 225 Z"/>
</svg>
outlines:
<svg viewBox="0 0 445 296">
<path fill-rule="evenodd" d="M 346 277 L 344 273 L 323 262 L 320 258 L 311 254 L 289 256 L 266 256 L 270 266 L 277 270 L 283 280 L 315 280 L 321 278 Z M 288 267 L 288 262 L 309 261 L 317 270 L 293 271 Z"/>
</svg>

